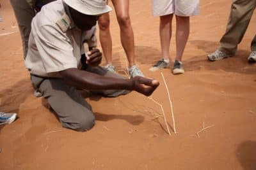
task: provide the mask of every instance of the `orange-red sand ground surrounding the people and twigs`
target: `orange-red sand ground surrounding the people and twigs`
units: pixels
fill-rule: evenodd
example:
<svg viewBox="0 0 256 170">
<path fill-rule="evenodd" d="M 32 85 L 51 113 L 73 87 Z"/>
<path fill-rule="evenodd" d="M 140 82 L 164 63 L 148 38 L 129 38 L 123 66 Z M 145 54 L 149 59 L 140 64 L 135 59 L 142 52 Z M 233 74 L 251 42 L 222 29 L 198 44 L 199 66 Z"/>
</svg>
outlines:
<svg viewBox="0 0 256 170">
<path fill-rule="evenodd" d="M 246 61 L 255 36 L 256 17 L 235 57 L 209 62 L 225 32 L 231 1 L 203 0 L 199 17 L 191 18 L 184 53 L 186 73 L 163 73 L 172 95 L 177 134 L 168 136 L 163 119 L 152 120 L 161 108 L 132 92 L 115 99 L 87 98 L 97 122 L 88 132 L 61 127 L 42 98 L 35 98 L 24 68 L 19 30 L 9 1 L 0 0 L 0 110 L 15 111 L 19 119 L 0 127 L 0 169 L 256 169 L 256 67 Z M 159 71 L 159 18 L 150 1 L 131 1 L 136 57 L 145 75 L 161 85 L 154 99 L 163 104 L 172 127 L 168 96 Z M 175 27 L 175 23 L 173 23 Z M 15 32 L 3 36 L 6 32 Z M 113 59 L 125 69 L 119 27 L 111 12 Z M 175 38 L 173 31 L 173 38 Z M 175 41 L 172 39 L 172 59 Z M 104 63 L 103 63 L 104 64 Z M 203 123 L 214 125 L 200 133 Z"/>
</svg>

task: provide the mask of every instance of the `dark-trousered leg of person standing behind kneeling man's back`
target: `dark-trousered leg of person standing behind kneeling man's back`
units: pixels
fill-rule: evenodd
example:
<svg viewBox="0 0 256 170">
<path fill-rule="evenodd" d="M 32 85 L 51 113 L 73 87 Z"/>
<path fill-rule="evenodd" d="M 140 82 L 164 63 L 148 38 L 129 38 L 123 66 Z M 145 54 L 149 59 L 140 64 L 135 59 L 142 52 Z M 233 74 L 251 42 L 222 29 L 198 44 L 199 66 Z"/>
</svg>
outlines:
<svg viewBox="0 0 256 170">
<path fill-rule="evenodd" d="M 35 11 L 26 0 L 10 0 L 15 17 L 17 19 L 20 36 L 22 38 L 24 59 L 28 53 L 28 39 L 31 31 L 31 21 L 35 17 Z"/>
</svg>

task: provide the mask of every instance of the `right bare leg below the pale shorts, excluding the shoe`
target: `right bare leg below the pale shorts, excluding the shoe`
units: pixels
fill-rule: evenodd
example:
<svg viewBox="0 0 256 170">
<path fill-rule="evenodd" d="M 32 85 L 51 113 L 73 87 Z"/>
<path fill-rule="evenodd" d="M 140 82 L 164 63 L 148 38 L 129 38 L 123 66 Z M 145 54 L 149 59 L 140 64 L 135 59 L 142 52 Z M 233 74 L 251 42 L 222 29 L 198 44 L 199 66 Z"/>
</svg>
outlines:
<svg viewBox="0 0 256 170">
<path fill-rule="evenodd" d="M 175 60 L 182 60 L 182 55 L 189 37 L 189 17 L 176 16 L 177 31 L 176 31 L 176 48 L 177 55 Z"/>
</svg>

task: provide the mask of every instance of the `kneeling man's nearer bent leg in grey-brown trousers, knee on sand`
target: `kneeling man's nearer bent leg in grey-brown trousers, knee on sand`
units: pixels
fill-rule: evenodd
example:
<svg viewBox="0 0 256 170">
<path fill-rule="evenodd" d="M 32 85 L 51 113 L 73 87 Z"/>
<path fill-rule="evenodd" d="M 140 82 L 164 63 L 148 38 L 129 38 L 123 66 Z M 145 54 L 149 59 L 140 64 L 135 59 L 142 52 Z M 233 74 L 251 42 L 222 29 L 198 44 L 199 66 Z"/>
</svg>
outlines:
<svg viewBox="0 0 256 170">
<path fill-rule="evenodd" d="M 92 129 L 95 124 L 92 108 L 75 87 L 68 86 L 59 78 L 40 78 L 32 75 L 31 81 L 47 99 L 63 127 L 75 131 Z"/>
</svg>

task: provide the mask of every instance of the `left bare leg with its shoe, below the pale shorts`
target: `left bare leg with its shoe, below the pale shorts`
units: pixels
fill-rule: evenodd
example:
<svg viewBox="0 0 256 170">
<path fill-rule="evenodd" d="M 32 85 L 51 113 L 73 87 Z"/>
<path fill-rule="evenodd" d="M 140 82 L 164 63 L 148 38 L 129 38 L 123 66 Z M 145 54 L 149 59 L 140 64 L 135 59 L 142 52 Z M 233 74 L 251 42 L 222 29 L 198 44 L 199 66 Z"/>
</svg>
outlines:
<svg viewBox="0 0 256 170">
<path fill-rule="evenodd" d="M 163 59 L 158 60 L 156 64 L 149 69 L 150 71 L 157 71 L 161 68 L 166 68 L 169 66 L 169 50 L 170 41 L 172 38 L 172 18 L 173 14 L 160 16 L 159 35 Z"/>
</svg>

